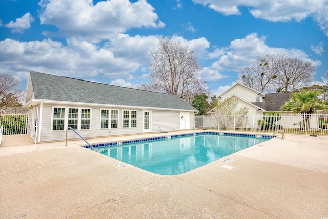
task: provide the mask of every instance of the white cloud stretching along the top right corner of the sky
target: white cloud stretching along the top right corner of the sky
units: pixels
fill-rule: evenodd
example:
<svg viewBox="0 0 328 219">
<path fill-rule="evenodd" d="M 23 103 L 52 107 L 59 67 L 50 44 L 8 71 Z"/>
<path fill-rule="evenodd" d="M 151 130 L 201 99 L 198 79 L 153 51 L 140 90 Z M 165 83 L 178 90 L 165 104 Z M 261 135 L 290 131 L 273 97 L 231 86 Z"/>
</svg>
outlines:
<svg viewBox="0 0 328 219">
<path fill-rule="evenodd" d="M 238 7 L 250 7 L 249 12 L 255 17 L 268 21 L 301 21 L 313 17 L 328 36 L 328 0 L 193 0 L 196 4 L 224 15 L 240 15 Z"/>
</svg>

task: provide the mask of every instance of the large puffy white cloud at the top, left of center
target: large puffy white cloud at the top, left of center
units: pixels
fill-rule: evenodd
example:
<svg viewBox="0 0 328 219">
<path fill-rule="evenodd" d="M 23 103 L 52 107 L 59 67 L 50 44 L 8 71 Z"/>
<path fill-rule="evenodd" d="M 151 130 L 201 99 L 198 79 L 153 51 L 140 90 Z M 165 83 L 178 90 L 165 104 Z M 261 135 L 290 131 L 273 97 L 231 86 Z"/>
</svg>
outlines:
<svg viewBox="0 0 328 219">
<path fill-rule="evenodd" d="M 165 26 L 146 0 L 100 1 L 95 5 L 92 0 L 42 0 L 39 4 L 41 24 L 55 25 L 64 36 L 90 42 L 110 39 L 131 28 Z"/>
</svg>

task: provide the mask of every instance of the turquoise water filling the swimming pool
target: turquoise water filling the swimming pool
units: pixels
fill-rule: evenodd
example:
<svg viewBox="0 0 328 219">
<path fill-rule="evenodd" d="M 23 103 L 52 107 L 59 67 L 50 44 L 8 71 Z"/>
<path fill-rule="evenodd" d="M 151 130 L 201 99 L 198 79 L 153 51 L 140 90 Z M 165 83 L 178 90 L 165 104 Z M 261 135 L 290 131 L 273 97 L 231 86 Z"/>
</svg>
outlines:
<svg viewBox="0 0 328 219">
<path fill-rule="evenodd" d="M 119 147 L 108 146 L 103 154 L 153 173 L 176 175 L 268 140 L 267 137 L 253 136 L 205 134 L 170 140 L 135 141 Z"/>
</svg>

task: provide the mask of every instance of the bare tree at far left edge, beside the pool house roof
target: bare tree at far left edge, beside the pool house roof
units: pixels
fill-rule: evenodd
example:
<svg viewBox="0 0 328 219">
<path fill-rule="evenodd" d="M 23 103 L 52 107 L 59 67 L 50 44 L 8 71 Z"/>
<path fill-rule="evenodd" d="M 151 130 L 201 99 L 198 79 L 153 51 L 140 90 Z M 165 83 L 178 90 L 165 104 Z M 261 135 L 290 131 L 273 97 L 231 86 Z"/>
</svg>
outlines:
<svg viewBox="0 0 328 219">
<path fill-rule="evenodd" d="M 22 93 L 19 81 L 14 76 L 0 73 L 0 109 L 22 106 L 19 103 Z"/>
</svg>

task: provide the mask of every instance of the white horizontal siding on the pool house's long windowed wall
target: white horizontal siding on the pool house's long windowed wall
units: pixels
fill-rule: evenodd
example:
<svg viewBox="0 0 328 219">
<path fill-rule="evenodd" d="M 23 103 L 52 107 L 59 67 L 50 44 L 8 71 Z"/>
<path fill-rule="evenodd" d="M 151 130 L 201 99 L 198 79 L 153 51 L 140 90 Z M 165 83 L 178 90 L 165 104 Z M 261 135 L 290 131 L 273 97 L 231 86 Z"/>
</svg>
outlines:
<svg viewBox="0 0 328 219">
<path fill-rule="evenodd" d="M 34 107 L 33 107 L 34 108 Z M 54 108 L 64 108 L 65 116 L 64 116 L 64 126 L 63 130 L 53 131 L 53 109 Z M 42 126 L 40 130 L 40 142 L 45 141 L 65 141 L 65 131 L 68 125 L 68 109 L 69 108 L 78 108 L 79 113 L 81 109 L 90 109 L 90 127 L 91 129 L 82 129 L 77 130 L 77 132 L 83 136 L 84 138 L 95 138 L 95 137 L 107 137 L 107 136 L 115 136 L 115 135 L 122 135 L 122 134 L 139 134 L 143 133 L 143 110 L 130 110 L 130 109 L 111 109 L 111 108 L 102 108 L 104 110 L 109 110 L 109 128 L 108 129 L 101 129 L 100 128 L 100 121 L 101 121 L 101 108 L 98 107 L 90 107 L 90 106 L 77 106 L 77 105 L 51 105 L 51 104 L 43 104 L 42 110 Z M 122 127 L 122 120 L 123 120 L 123 111 L 131 111 L 136 112 L 136 127 L 134 128 L 123 128 Z M 41 112 L 41 110 L 40 110 Z M 81 117 L 79 117 L 79 120 Z M 134 120 L 132 116 L 132 121 Z M 190 113 L 190 120 L 191 125 L 190 128 L 194 127 L 192 124 L 194 121 L 193 113 Z M 178 111 L 166 111 L 166 110 L 152 110 L 152 118 L 150 123 L 150 129 L 152 132 L 159 132 L 161 131 L 175 131 L 179 130 L 179 112 Z M 31 121 L 32 123 L 32 121 Z M 132 124 L 134 122 L 130 122 Z M 80 126 L 80 124 L 79 124 Z M 96 127 L 96 128 L 93 128 Z M 178 128 L 177 128 L 178 127 Z M 67 137 L 69 140 L 77 140 L 79 137 L 71 130 L 68 130 Z"/>
</svg>

